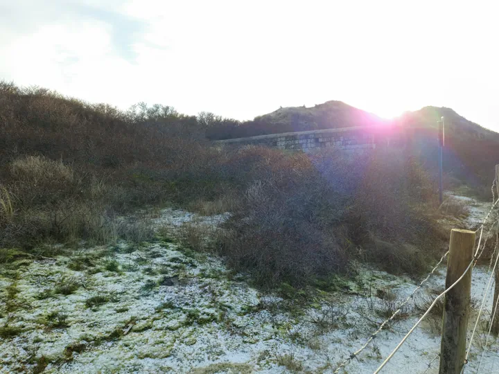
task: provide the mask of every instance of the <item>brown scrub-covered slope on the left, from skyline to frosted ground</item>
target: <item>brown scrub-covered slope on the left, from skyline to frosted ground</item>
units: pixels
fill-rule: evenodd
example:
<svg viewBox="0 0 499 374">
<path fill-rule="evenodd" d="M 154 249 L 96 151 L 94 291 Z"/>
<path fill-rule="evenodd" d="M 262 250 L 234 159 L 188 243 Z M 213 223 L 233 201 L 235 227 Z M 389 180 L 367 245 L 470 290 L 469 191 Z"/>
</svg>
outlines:
<svg viewBox="0 0 499 374">
<path fill-rule="evenodd" d="M 198 181 L 182 175 L 201 175 L 214 154 L 200 145 L 196 118 L 169 107 L 121 112 L 6 82 L 0 82 L 0 132 L 0 245 L 6 246 L 113 240 L 114 213 L 203 193 Z"/>
</svg>

